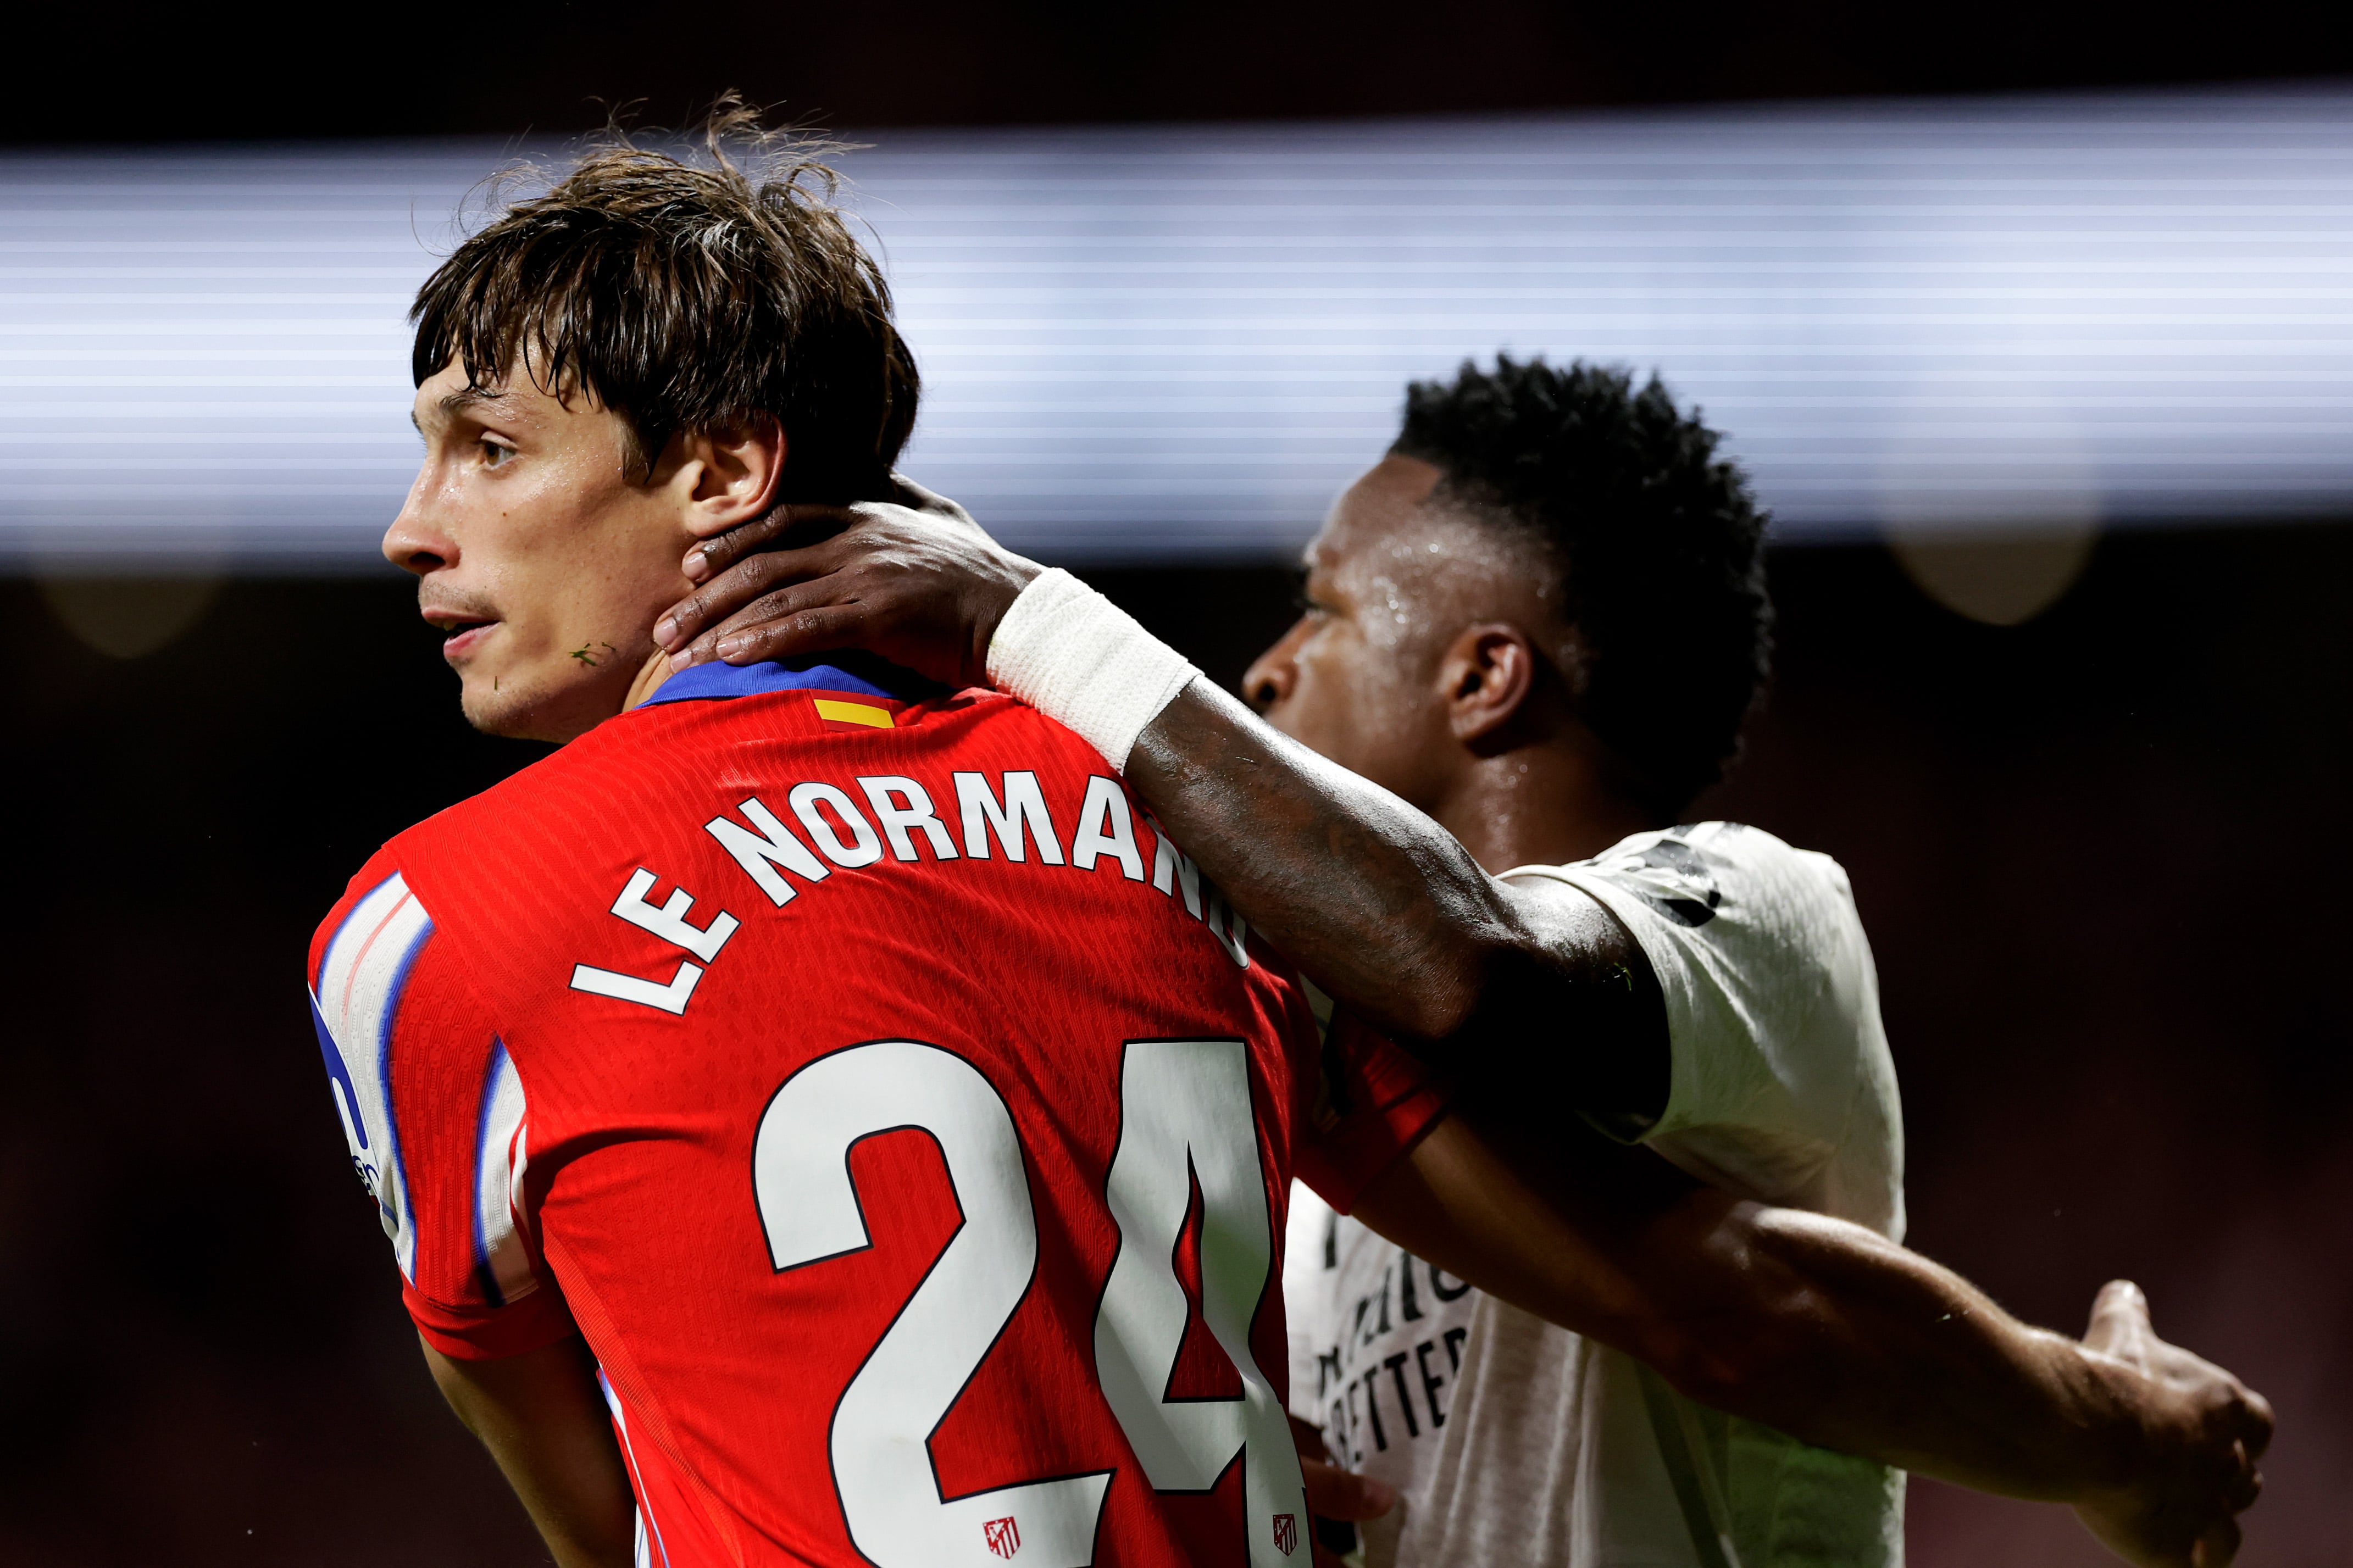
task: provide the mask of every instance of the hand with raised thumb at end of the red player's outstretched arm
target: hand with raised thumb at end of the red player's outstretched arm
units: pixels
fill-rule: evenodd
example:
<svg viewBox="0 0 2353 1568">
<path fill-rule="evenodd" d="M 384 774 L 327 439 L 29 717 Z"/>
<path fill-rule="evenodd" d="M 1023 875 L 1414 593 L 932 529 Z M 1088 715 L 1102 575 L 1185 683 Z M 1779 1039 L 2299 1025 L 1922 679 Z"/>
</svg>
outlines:
<svg viewBox="0 0 2353 1568">
<path fill-rule="evenodd" d="M 2148 1298 L 2111 1281 L 2092 1302 L 2085 1349 L 2146 1380 L 2144 1450 L 2134 1479 L 2075 1512 L 2118 1556 L 2148 1568 L 2226 1568 L 2238 1554 L 2238 1519 L 2264 1476 L 2271 1403 L 2245 1382 L 2167 1345 L 2148 1321 Z"/>
</svg>

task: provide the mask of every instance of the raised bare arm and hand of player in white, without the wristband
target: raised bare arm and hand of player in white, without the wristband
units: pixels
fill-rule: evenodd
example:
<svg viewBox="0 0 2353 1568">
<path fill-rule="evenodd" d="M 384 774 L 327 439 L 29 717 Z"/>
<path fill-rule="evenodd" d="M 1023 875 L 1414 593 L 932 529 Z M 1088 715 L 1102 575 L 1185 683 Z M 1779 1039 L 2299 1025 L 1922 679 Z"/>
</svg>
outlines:
<svg viewBox="0 0 2353 1568">
<path fill-rule="evenodd" d="M 814 543 L 772 548 L 800 536 Z M 988 642 L 1040 567 L 960 515 L 871 505 L 779 508 L 701 545 L 687 571 L 704 588 L 654 635 L 692 658 L 859 646 L 984 684 Z M 1424 1056 L 1546 1039 L 1558 1072 L 1558 1041 L 1577 1041 L 1565 1067 L 1588 1110 L 1642 1098 L 1621 1084 L 1628 1060 L 1664 1072 L 1647 964 L 1598 905 L 1489 877 L 1428 816 L 1207 682 L 1144 729 L 1127 780 L 1252 926 Z"/>
</svg>

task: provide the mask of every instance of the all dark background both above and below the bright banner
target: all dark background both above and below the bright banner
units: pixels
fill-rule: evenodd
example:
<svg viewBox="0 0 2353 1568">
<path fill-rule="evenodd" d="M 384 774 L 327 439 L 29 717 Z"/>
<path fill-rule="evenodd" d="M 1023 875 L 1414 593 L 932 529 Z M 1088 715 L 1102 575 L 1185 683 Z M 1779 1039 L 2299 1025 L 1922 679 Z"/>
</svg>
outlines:
<svg viewBox="0 0 2353 1568">
<path fill-rule="evenodd" d="M 729 85 L 864 129 L 2353 71 L 2320 7 L 2009 0 L 47 7 L 9 38 L 19 146 L 680 122 Z M 2061 1328 L 2137 1276 L 2278 1401 L 2252 1568 L 2348 1559 L 2348 569 L 2329 522 L 2118 534 L 1995 630 L 1875 545 L 1781 550 L 1779 677 L 1708 802 L 1854 877 L 1913 1241 Z M 1094 576 L 1226 679 L 1289 614 L 1278 571 Z M 301 999 L 360 860 L 532 748 L 464 729 L 388 574 L 231 583 L 129 663 L 31 583 L 0 607 L 0 1563 L 541 1561 L 416 1361 Z M 2104 1561 L 2054 1509 L 1927 1483 L 1911 1540 L 1920 1568 Z"/>
</svg>

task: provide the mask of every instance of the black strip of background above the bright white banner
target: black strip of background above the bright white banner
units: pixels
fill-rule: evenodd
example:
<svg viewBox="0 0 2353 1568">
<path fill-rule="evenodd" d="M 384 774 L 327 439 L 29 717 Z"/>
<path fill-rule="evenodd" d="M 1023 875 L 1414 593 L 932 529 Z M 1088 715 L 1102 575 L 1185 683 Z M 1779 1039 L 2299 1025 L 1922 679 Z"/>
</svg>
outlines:
<svg viewBox="0 0 2353 1568">
<path fill-rule="evenodd" d="M 2353 12 L 2238 0 L 899 0 L 26 7 L 5 141 L 680 125 L 722 87 L 835 127 L 1285 120 L 2019 92 L 2353 71 Z"/>
</svg>

